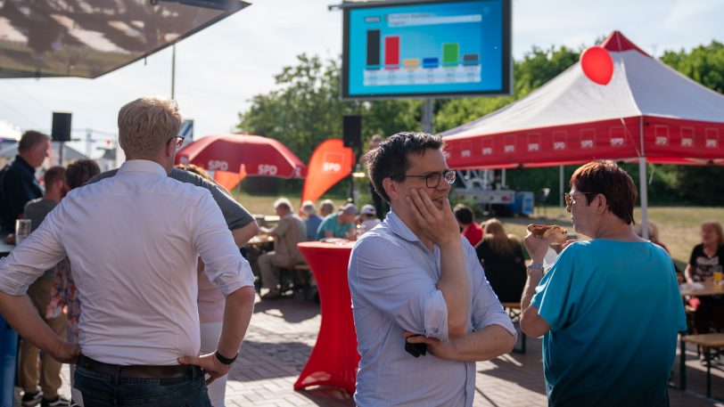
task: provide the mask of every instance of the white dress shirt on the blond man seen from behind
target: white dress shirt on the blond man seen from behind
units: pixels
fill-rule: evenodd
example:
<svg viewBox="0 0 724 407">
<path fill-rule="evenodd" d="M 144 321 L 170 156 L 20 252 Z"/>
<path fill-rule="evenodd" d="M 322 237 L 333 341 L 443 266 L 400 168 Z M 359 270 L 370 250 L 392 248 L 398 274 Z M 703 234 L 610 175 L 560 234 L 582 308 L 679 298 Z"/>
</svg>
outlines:
<svg viewBox="0 0 724 407">
<path fill-rule="evenodd" d="M 81 351 L 106 363 L 171 365 L 198 354 L 197 256 L 225 296 L 253 285 L 209 191 L 146 160 L 62 199 L 0 261 L 0 290 L 24 294 L 66 255 L 82 307 Z"/>
</svg>

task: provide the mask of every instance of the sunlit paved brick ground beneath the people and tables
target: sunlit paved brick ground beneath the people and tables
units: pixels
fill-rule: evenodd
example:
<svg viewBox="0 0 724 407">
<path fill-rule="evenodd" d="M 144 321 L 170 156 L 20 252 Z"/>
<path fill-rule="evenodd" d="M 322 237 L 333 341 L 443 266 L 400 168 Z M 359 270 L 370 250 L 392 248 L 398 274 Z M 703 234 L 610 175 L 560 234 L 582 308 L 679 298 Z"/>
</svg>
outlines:
<svg viewBox="0 0 724 407">
<path fill-rule="evenodd" d="M 307 362 L 319 328 L 318 305 L 281 299 L 258 303 L 242 354 L 230 373 L 227 406 L 291 407 L 353 406 L 350 395 L 333 388 L 295 392 L 292 388 Z M 679 384 L 679 360 L 672 383 Z M 526 354 L 506 354 L 477 364 L 474 405 L 494 407 L 545 406 L 540 341 L 528 338 Z M 724 373 L 714 371 L 712 392 L 724 399 Z M 62 395 L 70 395 L 69 370 L 63 370 Z M 676 407 L 721 406 L 706 399 L 704 370 L 695 348 L 687 349 L 687 392 L 670 389 Z"/>
</svg>

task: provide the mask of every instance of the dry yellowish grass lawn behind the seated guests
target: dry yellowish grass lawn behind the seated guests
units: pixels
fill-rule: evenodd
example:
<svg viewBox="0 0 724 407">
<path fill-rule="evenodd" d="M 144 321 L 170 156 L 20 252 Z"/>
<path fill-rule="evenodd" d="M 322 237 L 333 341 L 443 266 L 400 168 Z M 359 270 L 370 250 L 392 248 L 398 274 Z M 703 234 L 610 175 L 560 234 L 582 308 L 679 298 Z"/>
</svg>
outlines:
<svg viewBox="0 0 724 407">
<path fill-rule="evenodd" d="M 276 196 L 253 196 L 240 194 L 234 191 L 234 198 L 242 203 L 244 208 L 252 214 L 274 215 L 274 201 Z M 299 208 L 300 196 L 291 194 L 287 196 L 292 206 Z M 333 199 L 339 207 L 346 202 L 344 197 L 324 197 Z M 317 204 L 319 201 L 317 201 Z M 691 255 L 691 249 L 701 242 L 699 237 L 699 224 L 705 220 L 718 220 L 724 223 L 724 208 L 703 207 L 654 207 L 649 208 L 649 220 L 659 227 L 659 239 L 671 251 L 671 256 L 679 261 L 679 265 L 686 264 Z M 641 219 L 639 208 L 634 210 L 637 221 Z M 481 222 L 485 218 L 479 218 Z M 504 217 L 500 220 L 506 226 L 506 232 L 514 233 L 520 237 L 528 234 L 525 227 L 528 224 L 559 224 L 569 231 L 573 231 L 571 216 L 558 207 L 536 208 L 531 217 Z M 683 269 L 683 268 L 682 268 Z"/>
</svg>

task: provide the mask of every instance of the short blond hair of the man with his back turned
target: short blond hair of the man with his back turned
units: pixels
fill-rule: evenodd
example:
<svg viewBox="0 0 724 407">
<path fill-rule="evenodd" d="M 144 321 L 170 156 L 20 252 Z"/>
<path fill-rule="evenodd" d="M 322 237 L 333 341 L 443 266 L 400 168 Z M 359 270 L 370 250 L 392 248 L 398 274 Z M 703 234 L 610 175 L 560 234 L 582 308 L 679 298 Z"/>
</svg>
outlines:
<svg viewBox="0 0 724 407">
<path fill-rule="evenodd" d="M 136 99 L 120 108 L 120 147 L 129 157 L 155 156 L 178 134 L 183 121 L 175 101 L 157 97 Z"/>
</svg>

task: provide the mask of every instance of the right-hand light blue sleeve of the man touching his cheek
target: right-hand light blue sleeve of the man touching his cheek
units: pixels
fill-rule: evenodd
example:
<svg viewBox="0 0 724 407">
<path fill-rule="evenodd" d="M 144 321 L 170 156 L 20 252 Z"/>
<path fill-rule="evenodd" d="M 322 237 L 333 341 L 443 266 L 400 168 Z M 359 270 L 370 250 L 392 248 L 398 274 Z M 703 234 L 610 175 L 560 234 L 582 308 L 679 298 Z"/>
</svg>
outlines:
<svg viewBox="0 0 724 407">
<path fill-rule="evenodd" d="M 465 257 L 469 270 L 473 270 L 471 287 L 473 287 L 473 330 L 481 330 L 490 325 L 500 325 L 508 330 L 515 338 L 517 333 L 510 316 L 500 304 L 498 296 L 490 287 L 490 283 L 485 278 L 485 272 L 482 270 L 480 261 L 475 254 L 475 250 L 470 245 L 464 245 Z"/>
</svg>

